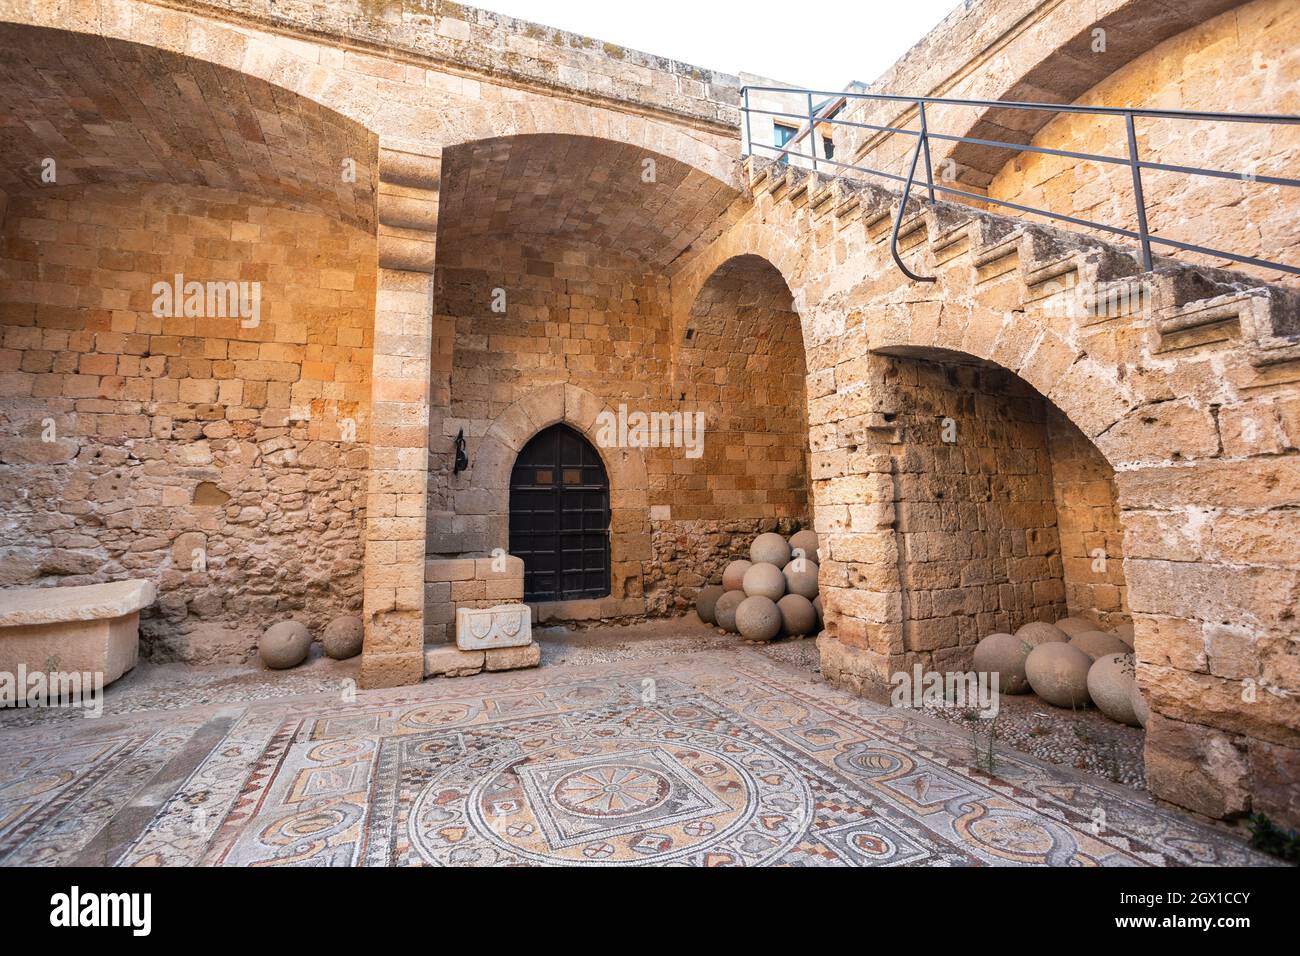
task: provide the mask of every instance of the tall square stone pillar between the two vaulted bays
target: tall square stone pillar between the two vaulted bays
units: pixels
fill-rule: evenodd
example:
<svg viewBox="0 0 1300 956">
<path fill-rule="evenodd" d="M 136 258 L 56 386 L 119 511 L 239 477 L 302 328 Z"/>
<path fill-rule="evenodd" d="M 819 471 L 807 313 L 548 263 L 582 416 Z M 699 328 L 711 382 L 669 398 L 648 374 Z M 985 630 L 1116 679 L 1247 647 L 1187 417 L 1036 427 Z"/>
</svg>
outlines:
<svg viewBox="0 0 1300 956">
<path fill-rule="evenodd" d="M 439 156 L 380 148 L 363 687 L 424 676 L 429 375 Z"/>
</svg>

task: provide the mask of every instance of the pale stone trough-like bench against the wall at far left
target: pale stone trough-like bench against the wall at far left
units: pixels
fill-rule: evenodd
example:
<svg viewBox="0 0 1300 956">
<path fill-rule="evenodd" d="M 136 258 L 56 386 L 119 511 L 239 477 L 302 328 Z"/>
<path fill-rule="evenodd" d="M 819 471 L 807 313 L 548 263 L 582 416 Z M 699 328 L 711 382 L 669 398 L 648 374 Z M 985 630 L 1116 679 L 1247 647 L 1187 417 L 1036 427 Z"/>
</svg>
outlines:
<svg viewBox="0 0 1300 956">
<path fill-rule="evenodd" d="M 0 672 L 88 671 L 112 683 L 135 666 L 140 610 L 156 594 L 142 580 L 0 591 Z"/>
</svg>

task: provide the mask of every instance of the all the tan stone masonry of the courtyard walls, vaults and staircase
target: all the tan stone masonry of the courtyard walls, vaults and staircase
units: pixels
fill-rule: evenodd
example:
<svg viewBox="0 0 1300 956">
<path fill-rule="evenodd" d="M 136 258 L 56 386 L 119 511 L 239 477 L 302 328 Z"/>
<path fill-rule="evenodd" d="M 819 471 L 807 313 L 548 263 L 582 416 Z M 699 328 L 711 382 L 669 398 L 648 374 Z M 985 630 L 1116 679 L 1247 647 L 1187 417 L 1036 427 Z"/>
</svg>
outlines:
<svg viewBox="0 0 1300 956">
<path fill-rule="evenodd" d="M 963 5 L 881 83 L 1297 112 L 1284 0 L 1092 7 Z M 519 600 L 512 468 L 563 423 L 602 459 L 610 589 L 540 618 L 680 613 L 755 532 L 811 524 L 832 683 L 1131 619 L 1150 790 L 1300 819 L 1300 311 L 1270 276 L 1143 273 L 941 203 L 906 216 L 915 285 L 894 194 L 742 165 L 734 77 L 451 3 L 3 0 L 0 51 L 4 585 L 147 579 L 153 659 L 359 611 L 363 683 L 413 683 L 459 606 Z M 1076 117 L 1017 133 L 1109 148 Z M 1079 164 L 954 161 L 991 196 L 1118 203 Z M 1296 245 L 1278 187 L 1161 183 L 1153 229 Z M 160 312 L 174 280 L 256 282 L 260 316 Z M 703 412 L 703 454 L 599 447 L 620 406 Z"/>
</svg>

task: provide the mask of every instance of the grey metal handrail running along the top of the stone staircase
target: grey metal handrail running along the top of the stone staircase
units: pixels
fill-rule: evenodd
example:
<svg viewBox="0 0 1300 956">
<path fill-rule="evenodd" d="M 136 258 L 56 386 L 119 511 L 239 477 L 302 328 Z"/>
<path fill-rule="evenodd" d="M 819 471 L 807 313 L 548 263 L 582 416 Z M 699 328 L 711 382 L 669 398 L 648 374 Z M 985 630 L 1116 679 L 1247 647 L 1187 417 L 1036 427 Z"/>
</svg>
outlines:
<svg viewBox="0 0 1300 956">
<path fill-rule="evenodd" d="M 779 94 L 793 94 L 807 98 L 807 112 L 806 113 L 788 113 L 783 111 L 772 109 L 759 109 L 751 107 L 749 101 L 750 91 L 757 92 L 779 92 Z M 889 254 L 893 256 L 894 263 L 909 278 L 919 282 L 933 282 L 932 276 L 918 276 L 911 272 L 902 261 L 898 255 L 898 232 L 902 228 L 904 209 L 906 208 L 907 199 L 911 196 L 911 187 L 916 179 L 916 168 L 922 159 L 926 163 L 926 191 L 927 200 L 930 203 L 935 202 L 936 193 L 944 193 L 946 195 L 961 196 L 963 199 L 970 199 L 980 203 L 991 203 L 1008 209 L 1015 209 L 1017 212 L 1023 212 L 1035 216 L 1045 216 L 1046 219 L 1058 222 L 1070 222 L 1071 225 L 1083 226 L 1086 229 L 1098 229 L 1101 232 L 1109 233 L 1112 235 L 1121 235 L 1130 239 L 1136 239 L 1141 250 L 1143 268 L 1150 272 L 1153 268 L 1152 251 L 1150 247 L 1166 246 L 1175 250 L 1182 250 L 1187 252 L 1197 252 L 1206 256 L 1217 256 L 1221 259 L 1227 259 L 1234 263 L 1242 263 L 1244 265 L 1256 265 L 1265 269 L 1277 269 L 1292 276 L 1300 276 L 1300 267 L 1287 265 L 1286 263 L 1277 263 L 1269 259 L 1260 259 L 1257 256 L 1242 255 L 1239 252 L 1230 252 L 1227 250 L 1212 248 L 1209 246 L 1199 246 L 1190 242 L 1182 242 L 1179 239 L 1166 238 L 1150 232 L 1149 224 L 1147 221 L 1147 199 L 1143 189 L 1141 170 L 1152 169 L 1161 172 L 1182 173 L 1186 176 L 1208 176 L 1214 178 L 1230 178 L 1230 179 L 1245 179 L 1251 182 L 1261 182 L 1273 186 L 1290 186 L 1300 189 L 1300 179 L 1282 177 L 1282 176 L 1256 176 L 1253 173 L 1234 173 L 1226 169 L 1206 169 L 1201 166 L 1188 166 L 1173 163 L 1153 163 L 1150 160 L 1144 160 L 1138 155 L 1138 130 L 1135 120 L 1138 117 L 1143 118 L 1157 118 L 1157 120 L 1204 120 L 1214 122 L 1252 122 L 1252 124 L 1274 124 L 1274 125 L 1300 125 L 1300 116 L 1286 116 L 1286 114 L 1270 114 L 1270 113 L 1219 113 L 1209 111 L 1188 111 L 1188 109 L 1152 109 L 1145 107 L 1082 107 L 1072 103 L 1019 103 L 1014 100 L 972 100 L 972 99 L 952 99 L 944 96 L 902 96 L 896 94 L 866 94 L 866 92 L 849 92 L 846 90 L 827 91 L 827 90 L 800 90 L 785 86 L 744 86 L 741 87 L 742 107 L 741 112 L 745 114 L 745 148 L 749 153 L 753 153 L 755 148 L 771 150 L 777 155 L 777 159 L 789 157 L 790 155 L 802 156 L 802 153 L 790 153 L 790 150 L 768 146 L 766 143 L 755 143 L 751 135 L 750 114 L 757 113 L 760 116 L 780 116 L 793 120 L 800 120 L 801 122 L 807 122 L 809 131 L 809 159 L 811 160 L 812 172 L 816 172 L 818 164 L 826 164 L 829 166 L 836 166 L 838 169 L 853 169 L 857 172 L 867 173 L 870 176 L 879 176 L 894 182 L 904 183 L 902 196 L 898 202 L 898 212 L 894 216 L 893 234 L 889 241 Z M 870 122 L 859 122 L 853 120 L 838 120 L 833 116 L 816 116 L 812 105 L 814 96 L 835 96 L 842 98 L 844 100 L 858 99 L 858 100 L 872 100 L 872 101 L 888 101 L 888 103 L 906 103 L 916 108 L 916 114 L 919 118 L 919 129 L 910 130 L 898 126 L 885 126 Z M 1084 113 L 1095 116 L 1117 116 L 1124 120 L 1124 135 L 1127 139 L 1128 155 L 1127 156 L 1106 156 L 1102 153 L 1092 152 L 1078 152 L 1072 150 L 1054 150 L 1044 146 L 1031 146 L 1028 143 L 1004 143 L 996 139 L 980 139 L 978 137 L 958 137 L 946 133 L 932 133 L 930 131 L 926 107 L 927 104 L 939 105 L 952 105 L 952 107 L 984 107 L 991 109 L 1028 109 L 1028 111 L 1046 111 L 1054 113 Z M 898 135 L 916 137 L 916 146 L 911 152 L 911 164 L 906 177 L 898 176 L 896 173 L 888 173 L 881 169 L 872 169 L 866 165 L 855 165 L 852 163 L 840 163 L 828 157 L 818 159 L 816 150 L 816 127 L 820 124 L 831 126 L 850 126 L 855 129 L 868 129 L 878 133 L 892 133 Z M 790 138 L 790 143 L 797 143 L 802 138 L 802 130 Z M 1049 209 L 1040 209 L 1034 206 L 1026 206 L 1023 203 L 1013 203 L 1005 199 L 994 199 L 992 196 L 980 195 L 978 193 L 970 193 L 967 190 L 954 189 L 952 186 L 944 186 L 942 183 L 936 183 L 933 177 L 933 170 L 931 168 L 930 156 L 930 140 L 940 139 L 949 143 L 971 143 L 975 146 L 985 146 L 998 150 L 1014 150 L 1015 152 L 1035 152 L 1046 156 L 1065 156 L 1069 159 L 1078 159 L 1089 163 L 1106 163 L 1112 165 L 1128 166 L 1132 176 L 1134 186 L 1134 204 L 1138 213 L 1138 229 L 1124 229 L 1122 226 L 1108 225 L 1105 222 L 1096 222 L 1080 216 L 1069 216 L 1066 213 L 1052 212 Z"/>
</svg>

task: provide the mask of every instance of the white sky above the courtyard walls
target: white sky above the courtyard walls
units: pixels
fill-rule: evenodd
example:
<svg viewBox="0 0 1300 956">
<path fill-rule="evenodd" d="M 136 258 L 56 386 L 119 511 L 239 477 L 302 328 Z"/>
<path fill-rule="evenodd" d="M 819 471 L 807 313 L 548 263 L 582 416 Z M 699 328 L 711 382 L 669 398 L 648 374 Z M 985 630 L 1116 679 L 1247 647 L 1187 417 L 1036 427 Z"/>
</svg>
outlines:
<svg viewBox="0 0 1300 956">
<path fill-rule="evenodd" d="M 468 0 L 497 13 L 723 73 L 870 83 L 959 0 Z M 900 91 L 896 91 L 900 92 Z"/>
</svg>

